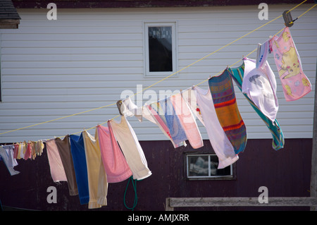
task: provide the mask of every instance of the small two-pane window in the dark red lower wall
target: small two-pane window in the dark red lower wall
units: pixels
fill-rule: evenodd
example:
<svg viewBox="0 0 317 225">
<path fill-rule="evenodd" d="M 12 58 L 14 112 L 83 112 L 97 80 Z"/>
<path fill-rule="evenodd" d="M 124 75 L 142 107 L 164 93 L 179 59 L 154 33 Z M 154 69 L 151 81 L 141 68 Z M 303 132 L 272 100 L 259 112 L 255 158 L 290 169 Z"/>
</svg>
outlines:
<svg viewBox="0 0 317 225">
<path fill-rule="evenodd" d="M 218 169 L 216 154 L 186 154 L 186 176 L 188 179 L 233 179 L 233 166 Z"/>
</svg>

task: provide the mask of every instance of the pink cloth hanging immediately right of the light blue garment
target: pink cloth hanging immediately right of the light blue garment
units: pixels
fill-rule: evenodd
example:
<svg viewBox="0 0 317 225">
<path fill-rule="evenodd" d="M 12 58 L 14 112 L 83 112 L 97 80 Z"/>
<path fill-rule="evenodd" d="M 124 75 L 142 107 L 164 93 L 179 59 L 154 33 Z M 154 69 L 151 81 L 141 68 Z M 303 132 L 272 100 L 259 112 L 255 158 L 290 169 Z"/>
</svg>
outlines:
<svg viewBox="0 0 317 225">
<path fill-rule="evenodd" d="M 194 115 L 189 109 L 187 103 L 182 98 L 181 94 L 173 95 L 170 97 L 170 102 L 172 102 L 175 109 L 175 113 L 180 119 L 180 123 L 185 130 L 186 137 L 194 149 L 204 146 L 204 142 L 201 138 L 196 121 L 194 120 Z"/>
</svg>

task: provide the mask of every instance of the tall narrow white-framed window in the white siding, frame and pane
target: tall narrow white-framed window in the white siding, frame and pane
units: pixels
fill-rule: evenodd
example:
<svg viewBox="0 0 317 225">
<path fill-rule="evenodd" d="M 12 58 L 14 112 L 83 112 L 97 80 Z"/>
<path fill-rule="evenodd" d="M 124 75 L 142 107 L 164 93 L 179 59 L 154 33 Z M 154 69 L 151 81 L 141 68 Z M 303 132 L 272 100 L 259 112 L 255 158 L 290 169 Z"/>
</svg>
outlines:
<svg viewBox="0 0 317 225">
<path fill-rule="evenodd" d="M 144 23 L 145 75 L 176 72 L 175 23 Z"/>
</svg>

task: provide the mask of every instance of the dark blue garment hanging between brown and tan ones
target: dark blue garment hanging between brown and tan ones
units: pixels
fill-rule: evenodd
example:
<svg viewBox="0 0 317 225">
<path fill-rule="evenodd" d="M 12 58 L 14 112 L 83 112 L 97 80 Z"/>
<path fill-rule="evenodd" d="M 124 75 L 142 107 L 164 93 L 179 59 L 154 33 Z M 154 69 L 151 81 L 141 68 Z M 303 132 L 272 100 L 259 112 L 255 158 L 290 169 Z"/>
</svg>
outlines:
<svg viewBox="0 0 317 225">
<path fill-rule="evenodd" d="M 80 197 L 80 204 L 88 204 L 89 202 L 89 186 L 87 174 L 87 162 L 85 154 L 84 139 L 82 133 L 78 135 L 70 135 L 70 152 L 73 157 L 75 176 Z"/>
</svg>

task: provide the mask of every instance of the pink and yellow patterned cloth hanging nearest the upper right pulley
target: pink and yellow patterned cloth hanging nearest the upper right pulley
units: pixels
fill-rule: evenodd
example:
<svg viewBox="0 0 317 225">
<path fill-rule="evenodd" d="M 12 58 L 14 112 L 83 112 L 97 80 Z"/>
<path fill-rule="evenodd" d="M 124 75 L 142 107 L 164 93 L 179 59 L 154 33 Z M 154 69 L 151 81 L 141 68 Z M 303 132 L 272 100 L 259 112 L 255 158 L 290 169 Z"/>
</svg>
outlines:
<svg viewBox="0 0 317 225">
<path fill-rule="evenodd" d="M 280 37 L 274 36 L 270 42 L 286 101 L 300 99 L 311 92 L 311 83 L 302 70 L 290 29 L 285 27 Z"/>
</svg>

